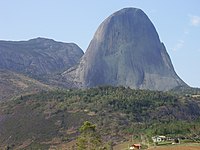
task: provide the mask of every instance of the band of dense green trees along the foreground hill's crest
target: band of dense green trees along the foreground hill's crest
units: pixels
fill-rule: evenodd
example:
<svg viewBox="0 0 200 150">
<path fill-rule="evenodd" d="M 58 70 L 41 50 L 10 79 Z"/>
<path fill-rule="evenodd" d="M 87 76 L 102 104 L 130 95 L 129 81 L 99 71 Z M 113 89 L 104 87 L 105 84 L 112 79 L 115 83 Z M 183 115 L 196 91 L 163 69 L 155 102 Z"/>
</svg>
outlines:
<svg viewBox="0 0 200 150">
<path fill-rule="evenodd" d="M 133 90 L 125 87 L 97 87 L 90 89 L 43 91 L 39 94 L 21 96 L 15 103 L 37 100 L 38 103 L 55 102 L 59 110 L 85 110 L 95 113 L 117 111 L 125 114 L 149 117 L 149 113 L 161 106 L 178 105 L 176 96 L 149 90 Z M 139 119 L 138 118 L 138 119 Z M 135 120 L 144 121 L 144 120 Z"/>
</svg>

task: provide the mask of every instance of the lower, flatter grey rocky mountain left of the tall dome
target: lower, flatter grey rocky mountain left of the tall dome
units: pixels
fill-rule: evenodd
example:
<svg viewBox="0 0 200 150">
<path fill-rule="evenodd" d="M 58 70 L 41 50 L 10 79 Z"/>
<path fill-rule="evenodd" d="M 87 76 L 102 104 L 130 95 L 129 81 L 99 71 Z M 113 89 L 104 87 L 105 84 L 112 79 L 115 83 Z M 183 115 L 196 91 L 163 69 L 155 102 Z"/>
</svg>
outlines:
<svg viewBox="0 0 200 150">
<path fill-rule="evenodd" d="M 82 55 L 76 44 L 51 39 L 0 41 L 0 69 L 33 77 L 62 72 L 75 65 Z"/>
</svg>

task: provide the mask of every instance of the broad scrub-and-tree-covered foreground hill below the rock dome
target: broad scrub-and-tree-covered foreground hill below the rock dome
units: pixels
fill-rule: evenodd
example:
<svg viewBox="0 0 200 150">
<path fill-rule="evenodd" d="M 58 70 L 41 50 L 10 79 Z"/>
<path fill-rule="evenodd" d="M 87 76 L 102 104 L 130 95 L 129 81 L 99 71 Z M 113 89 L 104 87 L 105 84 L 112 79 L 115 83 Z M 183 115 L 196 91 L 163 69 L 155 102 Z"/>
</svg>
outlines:
<svg viewBox="0 0 200 150">
<path fill-rule="evenodd" d="M 110 86 L 42 91 L 1 103 L 0 143 L 26 148 L 66 143 L 86 120 L 113 143 L 130 134 L 194 138 L 200 135 L 199 115 L 199 98 L 170 92 Z"/>
</svg>

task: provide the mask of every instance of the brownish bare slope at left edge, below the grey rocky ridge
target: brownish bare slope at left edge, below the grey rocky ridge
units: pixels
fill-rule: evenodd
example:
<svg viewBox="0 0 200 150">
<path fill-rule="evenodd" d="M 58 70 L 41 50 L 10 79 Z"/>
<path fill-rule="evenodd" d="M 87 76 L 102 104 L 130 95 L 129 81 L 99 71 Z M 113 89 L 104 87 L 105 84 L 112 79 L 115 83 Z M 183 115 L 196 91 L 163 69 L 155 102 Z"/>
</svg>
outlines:
<svg viewBox="0 0 200 150">
<path fill-rule="evenodd" d="M 22 74 L 0 70 L 0 101 L 51 89 L 53 88 Z"/>
</svg>

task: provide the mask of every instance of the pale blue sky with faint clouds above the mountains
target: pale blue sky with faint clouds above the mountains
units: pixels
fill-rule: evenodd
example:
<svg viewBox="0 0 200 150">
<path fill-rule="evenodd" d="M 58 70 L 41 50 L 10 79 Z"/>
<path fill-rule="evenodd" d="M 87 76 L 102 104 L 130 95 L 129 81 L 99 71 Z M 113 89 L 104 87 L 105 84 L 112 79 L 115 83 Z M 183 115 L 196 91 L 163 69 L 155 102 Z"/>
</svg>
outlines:
<svg viewBox="0 0 200 150">
<path fill-rule="evenodd" d="M 141 8 L 155 25 L 177 74 L 200 87 L 199 0 L 0 0 L 0 39 L 74 42 L 84 51 L 99 24 L 124 7 Z"/>
</svg>

